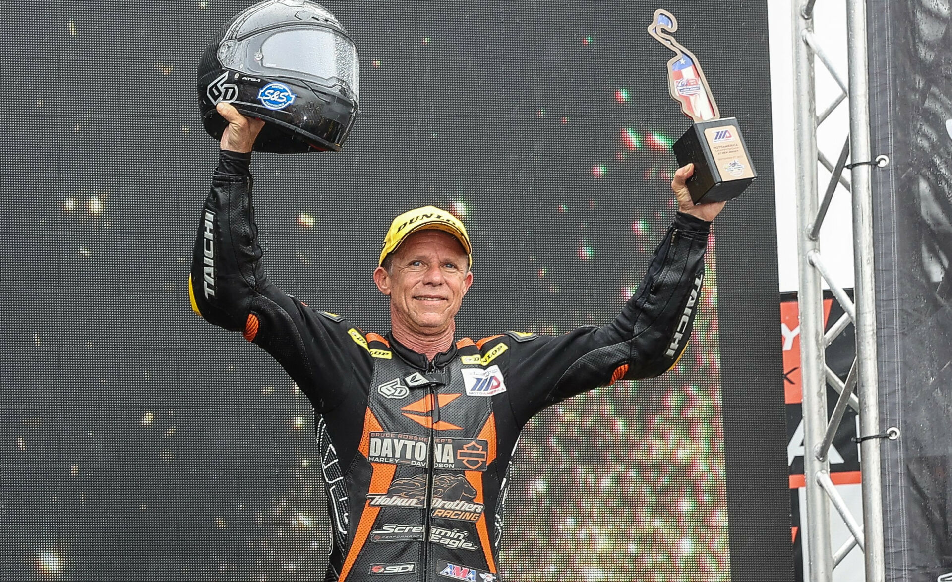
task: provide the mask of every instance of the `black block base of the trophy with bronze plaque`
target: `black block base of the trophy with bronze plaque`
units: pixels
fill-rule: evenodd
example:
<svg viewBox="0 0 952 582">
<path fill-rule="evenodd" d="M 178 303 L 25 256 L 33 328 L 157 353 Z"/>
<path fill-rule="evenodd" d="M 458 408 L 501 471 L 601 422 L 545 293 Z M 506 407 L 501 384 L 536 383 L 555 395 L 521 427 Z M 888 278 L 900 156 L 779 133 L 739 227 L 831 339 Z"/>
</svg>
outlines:
<svg viewBox="0 0 952 582">
<path fill-rule="evenodd" d="M 679 167 L 694 164 L 687 180 L 694 204 L 737 198 L 757 178 L 736 117 L 695 123 L 671 150 Z"/>
</svg>

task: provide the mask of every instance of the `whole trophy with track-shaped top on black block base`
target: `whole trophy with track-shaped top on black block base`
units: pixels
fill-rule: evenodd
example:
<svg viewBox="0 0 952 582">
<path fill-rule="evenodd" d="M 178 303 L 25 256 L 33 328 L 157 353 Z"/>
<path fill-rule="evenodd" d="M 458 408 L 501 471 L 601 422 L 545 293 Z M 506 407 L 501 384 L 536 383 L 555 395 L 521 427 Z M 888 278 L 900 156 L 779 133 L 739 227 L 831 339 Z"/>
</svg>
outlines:
<svg viewBox="0 0 952 582">
<path fill-rule="evenodd" d="M 737 118 L 721 117 L 698 58 L 674 39 L 676 30 L 674 15 L 655 10 L 648 33 L 675 54 L 667 62 L 668 90 L 684 114 L 694 120 L 671 150 L 679 166 L 694 164 L 687 190 L 695 204 L 736 198 L 754 181 L 757 171 L 750 163 Z"/>
</svg>

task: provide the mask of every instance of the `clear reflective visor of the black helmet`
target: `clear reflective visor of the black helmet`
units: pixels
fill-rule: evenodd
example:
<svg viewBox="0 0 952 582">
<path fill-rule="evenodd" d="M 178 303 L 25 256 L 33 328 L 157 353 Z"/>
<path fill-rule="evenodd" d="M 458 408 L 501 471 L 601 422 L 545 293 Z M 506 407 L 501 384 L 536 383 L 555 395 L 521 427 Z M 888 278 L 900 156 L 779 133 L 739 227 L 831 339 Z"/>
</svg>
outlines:
<svg viewBox="0 0 952 582">
<path fill-rule="evenodd" d="M 258 58 L 260 55 L 260 58 Z M 255 69 L 263 74 L 298 73 L 330 84 L 340 83 L 360 95 L 357 49 L 336 30 L 307 27 L 269 34 L 254 55 Z"/>
</svg>

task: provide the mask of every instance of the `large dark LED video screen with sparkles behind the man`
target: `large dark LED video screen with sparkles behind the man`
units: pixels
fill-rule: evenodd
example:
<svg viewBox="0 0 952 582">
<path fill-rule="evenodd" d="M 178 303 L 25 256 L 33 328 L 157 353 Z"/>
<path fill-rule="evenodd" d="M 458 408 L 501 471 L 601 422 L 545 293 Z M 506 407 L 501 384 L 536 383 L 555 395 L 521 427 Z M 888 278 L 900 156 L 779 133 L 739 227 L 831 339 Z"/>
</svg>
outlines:
<svg viewBox="0 0 952 582">
<path fill-rule="evenodd" d="M 217 150 L 194 70 L 248 5 L 5 5 L 2 83 L 18 97 L 0 134 L 4 580 L 323 575 L 310 404 L 267 354 L 188 307 Z M 645 32 L 659 7 L 325 5 L 361 52 L 362 112 L 341 153 L 256 156 L 271 279 L 386 331 L 370 281 L 383 233 L 435 203 L 475 247 L 460 336 L 610 320 L 673 213 L 668 146 L 687 122 L 666 92 L 671 53 Z M 765 3 L 664 8 L 761 178 L 719 218 L 678 367 L 527 427 L 504 580 L 789 570 Z"/>
</svg>

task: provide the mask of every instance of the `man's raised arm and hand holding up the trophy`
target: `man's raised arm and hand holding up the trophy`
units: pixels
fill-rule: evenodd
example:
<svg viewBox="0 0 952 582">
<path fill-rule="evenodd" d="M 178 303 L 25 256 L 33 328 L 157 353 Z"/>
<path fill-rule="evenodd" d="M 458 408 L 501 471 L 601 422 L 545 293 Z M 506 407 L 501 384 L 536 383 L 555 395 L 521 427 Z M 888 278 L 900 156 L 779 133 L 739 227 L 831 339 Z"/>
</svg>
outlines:
<svg viewBox="0 0 952 582">
<path fill-rule="evenodd" d="M 510 391 L 518 393 L 509 398 L 521 423 L 597 386 L 660 375 L 684 353 L 704 282 L 710 221 L 724 208 L 724 203 L 691 202 L 684 181 L 692 170 L 675 174 L 671 187 L 679 211 L 621 313 L 605 326 L 538 336 L 511 351 L 508 376 L 519 388 L 513 386 Z"/>
</svg>

